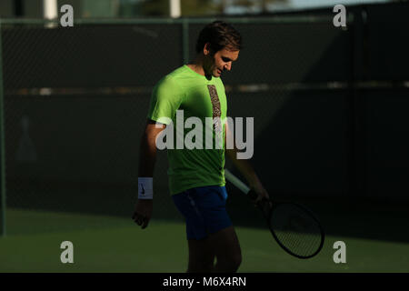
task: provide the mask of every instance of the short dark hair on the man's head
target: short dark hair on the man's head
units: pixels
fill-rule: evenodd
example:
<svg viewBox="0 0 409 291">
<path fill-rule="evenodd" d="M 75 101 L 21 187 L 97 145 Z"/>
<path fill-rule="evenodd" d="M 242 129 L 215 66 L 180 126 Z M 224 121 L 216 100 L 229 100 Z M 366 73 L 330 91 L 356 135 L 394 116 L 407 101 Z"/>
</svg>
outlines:
<svg viewBox="0 0 409 291">
<path fill-rule="evenodd" d="M 233 27 L 224 21 L 214 21 L 199 34 L 196 43 L 196 53 L 203 51 L 206 43 L 210 43 L 211 49 L 215 52 L 228 47 L 231 50 L 240 50 L 243 48 L 242 35 Z"/>
</svg>

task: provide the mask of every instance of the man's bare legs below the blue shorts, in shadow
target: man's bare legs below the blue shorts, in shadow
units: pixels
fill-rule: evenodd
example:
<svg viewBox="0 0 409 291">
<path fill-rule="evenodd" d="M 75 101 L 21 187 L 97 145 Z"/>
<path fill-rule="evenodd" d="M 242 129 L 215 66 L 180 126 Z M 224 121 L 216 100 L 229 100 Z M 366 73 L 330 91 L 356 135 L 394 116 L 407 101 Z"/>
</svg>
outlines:
<svg viewBox="0 0 409 291">
<path fill-rule="evenodd" d="M 234 227 L 224 228 L 203 240 L 188 240 L 188 273 L 236 272 L 242 253 Z M 214 256 L 217 263 L 214 266 Z"/>
</svg>

